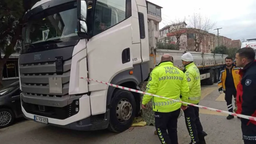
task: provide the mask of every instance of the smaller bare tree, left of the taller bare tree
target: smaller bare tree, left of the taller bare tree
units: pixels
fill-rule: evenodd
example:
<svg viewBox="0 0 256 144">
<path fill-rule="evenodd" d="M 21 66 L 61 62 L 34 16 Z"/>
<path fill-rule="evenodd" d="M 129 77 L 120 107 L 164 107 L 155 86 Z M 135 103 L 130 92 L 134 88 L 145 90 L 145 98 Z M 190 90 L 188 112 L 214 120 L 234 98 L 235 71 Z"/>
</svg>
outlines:
<svg viewBox="0 0 256 144">
<path fill-rule="evenodd" d="M 176 50 L 180 49 L 181 45 L 184 45 L 184 40 L 181 40 L 181 36 L 184 35 L 187 23 L 185 23 L 186 17 L 183 19 L 174 19 L 171 21 L 171 29 L 170 33 L 175 36 L 176 38 Z"/>
</svg>

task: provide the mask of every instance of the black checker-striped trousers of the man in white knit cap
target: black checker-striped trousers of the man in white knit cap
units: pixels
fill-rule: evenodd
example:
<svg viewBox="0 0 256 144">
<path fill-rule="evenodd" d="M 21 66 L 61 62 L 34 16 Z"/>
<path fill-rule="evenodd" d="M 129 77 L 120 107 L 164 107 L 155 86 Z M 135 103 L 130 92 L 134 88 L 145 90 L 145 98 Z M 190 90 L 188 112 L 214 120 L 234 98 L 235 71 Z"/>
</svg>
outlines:
<svg viewBox="0 0 256 144">
<path fill-rule="evenodd" d="M 191 137 L 191 142 L 198 143 L 200 141 L 200 137 L 207 135 L 203 131 L 202 124 L 200 122 L 199 108 L 189 105 L 188 108 L 184 110 L 184 116 L 188 133 Z"/>
</svg>

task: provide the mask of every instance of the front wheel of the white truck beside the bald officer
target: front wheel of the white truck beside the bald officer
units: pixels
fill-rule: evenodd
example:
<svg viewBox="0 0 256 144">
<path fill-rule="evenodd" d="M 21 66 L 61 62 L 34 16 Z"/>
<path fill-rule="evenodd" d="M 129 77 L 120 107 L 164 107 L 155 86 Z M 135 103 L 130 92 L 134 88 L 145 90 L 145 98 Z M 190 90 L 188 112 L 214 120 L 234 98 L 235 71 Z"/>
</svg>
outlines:
<svg viewBox="0 0 256 144">
<path fill-rule="evenodd" d="M 121 89 L 115 90 L 110 105 L 108 130 L 116 133 L 128 130 L 136 113 L 136 102 L 132 93 Z"/>
</svg>

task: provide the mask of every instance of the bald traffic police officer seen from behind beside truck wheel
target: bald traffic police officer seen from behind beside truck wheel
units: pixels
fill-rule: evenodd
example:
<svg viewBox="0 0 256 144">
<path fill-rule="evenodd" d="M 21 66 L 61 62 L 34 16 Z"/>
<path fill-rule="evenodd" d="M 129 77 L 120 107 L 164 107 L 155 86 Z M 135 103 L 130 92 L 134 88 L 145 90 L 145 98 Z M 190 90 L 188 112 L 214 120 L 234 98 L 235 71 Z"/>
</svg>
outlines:
<svg viewBox="0 0 256 144">
<path fill-rule="evenodd" d="M 173 66 L 170 54 L 164 54 L 161 62 L 150 73 L 146 92 L 175 100 L 188 101 L 188 82 L 183 71 Z M 183 96 L 180 98 L 180 94 Z M 180 114 L 180 102 L 144 95 L 142 108 L 152 99 L 155 112 L 155 128 L 162 144 L 178 144 L 177 122 Z M 168 134 L 167 131 L 168 130 Z"/>
</svg>

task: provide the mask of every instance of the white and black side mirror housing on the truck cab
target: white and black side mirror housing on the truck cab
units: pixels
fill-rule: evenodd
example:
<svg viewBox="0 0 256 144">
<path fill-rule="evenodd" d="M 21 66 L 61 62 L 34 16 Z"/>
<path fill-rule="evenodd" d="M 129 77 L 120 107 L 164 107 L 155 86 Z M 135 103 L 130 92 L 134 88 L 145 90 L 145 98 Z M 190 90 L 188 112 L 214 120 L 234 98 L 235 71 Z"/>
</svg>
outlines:
<svg viewBox="0 0 256 144">
<path fill-rule="evenodd" d="M 80 38 L 89 39 L 90 36 L 87 34 L 87 2 L 85 0 L 77 0 L 77 35 Z"/>
</svg>

